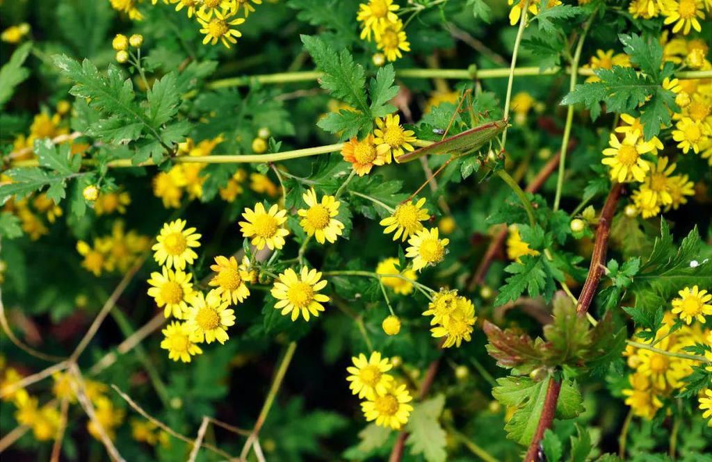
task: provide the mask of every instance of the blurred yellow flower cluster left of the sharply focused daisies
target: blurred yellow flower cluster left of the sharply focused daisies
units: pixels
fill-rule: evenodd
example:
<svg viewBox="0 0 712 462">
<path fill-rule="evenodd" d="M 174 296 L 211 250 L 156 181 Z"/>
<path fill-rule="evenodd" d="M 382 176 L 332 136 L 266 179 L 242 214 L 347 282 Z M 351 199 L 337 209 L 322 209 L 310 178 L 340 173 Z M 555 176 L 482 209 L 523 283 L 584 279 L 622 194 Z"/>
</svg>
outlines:
<svg viewBox="0 0 712 462">
<path fill-rule="evenodd" d="M 94 238 L 92 245 L 78 241 L 77 251 L 84 257 L 82 266 L 95 276 L 100 276 L 105 271 L 125 273 L 149 246 L 148 236 L 133 230 L 126 232 L 124 222 L 116 220 L 111 234 Z"/>
</svg>

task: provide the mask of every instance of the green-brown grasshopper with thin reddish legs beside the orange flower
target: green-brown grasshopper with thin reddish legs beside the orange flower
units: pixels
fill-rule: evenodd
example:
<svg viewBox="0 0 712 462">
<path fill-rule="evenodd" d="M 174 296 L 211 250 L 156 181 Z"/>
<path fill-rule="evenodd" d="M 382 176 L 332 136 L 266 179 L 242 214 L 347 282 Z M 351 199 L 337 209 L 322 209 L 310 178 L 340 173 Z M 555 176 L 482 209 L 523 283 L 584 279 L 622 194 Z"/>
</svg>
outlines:
<svg viewBox="0 0 712 462">
<path fill-rule="evenodd" d="M 441 140 L 434 142 L 432 145 L 416 149 L 413 152 L 408 152 L 396 159 L 396 162 L 403 164 L 405 162 L 411 162 L 412 160 L 419 159 L 425 155 L 442 155 L 451 154 L 450 158 L 441 165 L 439 169 L 432 174 L 432 177 L 426 179 L 426 182 L 422 184 L 406 201 L 411 200 L 416 196 L 426 185 L 436 177 L 440 172 L 442 172 L 445 167 L 447 167 L 450 162 L 460 157 L 464 157 L 468 154 L 478 151 L 481 147 L 489 142 L 492 142 L 503 130 L 508 126 L 509 121 L 507 119 L 495 120 L 493 122 L 487 122 L 477 127 L 472 127 L 464 132 L 458 133 L 451 137 L 447 137 L 447 133 L 450 130 L 455 117 L 460 112 L 461 107 L 465 100 L 468 100 L 468 110 L 470 112 L 470 120 L 476 120 L 476 117 L 472 110 L 471 101 L 472 90 L 467 89 L 464 91 L 460 98 L 459 104 L 457 105 L 455 112 L 453 113 L 450 122 L 445 130 L 442 131 Z M 435 132 L 435 130 L 434 130 Z M 440 134 L 440 130 L 436 133 Z"/>
</svg>

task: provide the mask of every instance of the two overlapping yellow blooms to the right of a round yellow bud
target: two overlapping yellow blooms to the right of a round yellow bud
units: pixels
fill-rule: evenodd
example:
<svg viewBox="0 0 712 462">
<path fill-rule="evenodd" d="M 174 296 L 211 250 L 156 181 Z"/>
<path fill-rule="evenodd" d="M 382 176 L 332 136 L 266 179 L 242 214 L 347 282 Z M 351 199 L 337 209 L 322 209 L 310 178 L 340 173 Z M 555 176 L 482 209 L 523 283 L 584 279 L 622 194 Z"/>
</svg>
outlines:
<svg viewBox="0 0 712 462">
<path fill-rule="evenodd" d="M 453 345 L 459 347 L 463 340 L 471 340 L 472 326 L 475 323 L 475 306 L 471 300 L 457 295 L 457 290 L 441 288 L 428 304 L 424 316 L 432 316 L 430 325 L 433 337 L 445 337 L 444 348 Z"/>
</svg>

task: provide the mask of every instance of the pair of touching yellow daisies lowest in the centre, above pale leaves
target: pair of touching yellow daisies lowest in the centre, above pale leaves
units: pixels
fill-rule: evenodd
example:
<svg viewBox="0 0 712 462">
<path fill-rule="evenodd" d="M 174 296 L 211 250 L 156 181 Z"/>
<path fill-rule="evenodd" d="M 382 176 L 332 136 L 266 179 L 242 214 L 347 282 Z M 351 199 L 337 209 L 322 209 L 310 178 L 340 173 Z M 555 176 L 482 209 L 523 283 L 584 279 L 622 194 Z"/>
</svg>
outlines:
<svg viewBox="0 0 712 462">
<path fill-rule="evenodd" d="M 361 353 L 352 357 L 353 366 L 347 367 L 351 382 L 349 388 L 357 394 L 361 409 L 367 421 L 376 421 L 376 425 L 399 430 L 407 423 L 413 406 L 412 397 L 405 384 L 400 384 L 391 375 L 393 369 L 389 358 L 380 352 L 372 352 L 370 357 Z"/>
</svg>

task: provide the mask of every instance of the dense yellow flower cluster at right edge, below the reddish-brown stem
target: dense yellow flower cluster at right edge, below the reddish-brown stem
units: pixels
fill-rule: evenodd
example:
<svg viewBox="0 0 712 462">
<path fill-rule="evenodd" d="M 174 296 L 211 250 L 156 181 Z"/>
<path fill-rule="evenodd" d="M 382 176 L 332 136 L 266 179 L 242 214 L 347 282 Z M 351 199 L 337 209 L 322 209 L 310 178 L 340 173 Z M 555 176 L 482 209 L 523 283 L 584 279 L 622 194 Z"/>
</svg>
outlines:
<svg viewBox="0 0 712 462">
<path fill-rule="evenodd" d="M 624 352 L 633 371 L 628 377 L 629 388 L 623 390 L 625 404 L 635 415 L 646 419 L 653 419 L 664 401 L 684 388 L 686 377 L 698 364 L 684 357 L 686 348 L 708 345 L 712 340 L 712 331 L 701 326 L 705 316 L 712 315 L 712 305 L 707 303 L 712 295 L 697 286 L 684 288 L 679 295 L 672 300 L 672 310 L 665 314 L 654 339 L 640 347 L 628 345 Z M 681 323 L 676 322 L 676 315 Z M 712 352 L 707 352 L 706 357 L 712 359 Z"/>
</svg>

